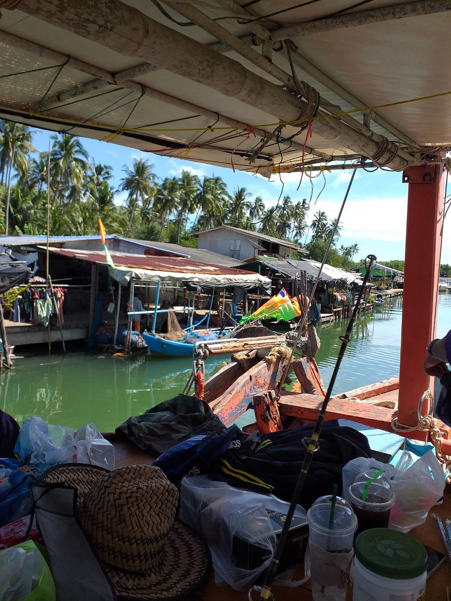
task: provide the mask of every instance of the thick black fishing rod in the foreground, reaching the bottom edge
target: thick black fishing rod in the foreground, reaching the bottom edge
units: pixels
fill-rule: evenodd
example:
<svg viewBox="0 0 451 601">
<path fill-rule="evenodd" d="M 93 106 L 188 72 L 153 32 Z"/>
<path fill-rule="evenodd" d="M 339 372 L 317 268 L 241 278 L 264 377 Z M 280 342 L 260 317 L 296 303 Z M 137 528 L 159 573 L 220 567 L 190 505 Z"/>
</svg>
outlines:
<svg viewBox="0 0 451 601">
<path fill-rule="evenodd" d="M 311 460 L 313 459 L 313 454 L 318 448 L 318 439 L 321 434 L 322 423 L 324 421 L 324 416 L 327 410 L 328 403 L 331 398 L 332 389 L 335 384 L 335 380 L 337 378 L 338 371 L 340 369 L 340 365 L 342 364 L 343 355 L 345 355 L 346 347 L 349 344 L 349 337 L 351 336 L 352 326 L 354 326 L 355 318 L 357 317 L 357 311 L 360 307 L 360 302 L 363 296 L 363 291 L 365 290 L 367 281 L 369 279 L 370 273 L 373 269 L 373 264 L 376 262 L 375 255 L 368 255 L 365 259 L 365 268 L 366 272 L 363 278 L 363 282 L 361 284 L 357 302 L 354 305 L 354 311 L 352 311 L 352 316 L 349 319 L 348 328 L 346 328 L 346 332 L 344 336 L 340 336 L 340 340 L 342 341 L 342 346 L 340 347 L 340 352 L 337 357 L 337 362 L 334 367 L 334 371 L 332 377 L 330 379 L 329 386 L 327 388 L 326 395 L 324 397 L 324 401 L 322 402 L 321 411 L 319 412 L 318 419 L 316 420 L 316 424 L 314 425 L 313 433 L 311 438 L 302 439 L 302 443 L 307 447 L 307 453 L 305 453 L 304 462 L 302 463 L 301 472 L 299 474 L 298 482 L 296 483 L 295 491 L 293 493 L 293 498 L 290 502 L 290 507 L 287 511 L 287 517 L 283 524 L 283 528 L 280 534 L 280 538 L 275 547 L 274 557 L 272 558 L 271 565 L 269 566 L 268 572 L 266 573 L 265 584 L 257 590 L 260 590 L 260 601 L 268 601 L 271 598 L 271 587 L 274 582 L 278 566 L 280 564 L 280 559 L 282 557 L 282 552 L 284 546 L 286 544 L 288 531 L 290 529 L 290 525 L 293 519 L 293 515 L 296 510 L 296 505 L 299 501 L 299 496 L 301 496 L 302 488 L 304 487 L 305 477 L 307 476 L 308 469 L 310 468 Z M 250 590 L 250 594 L 253 588 Z"/>
</svg>

